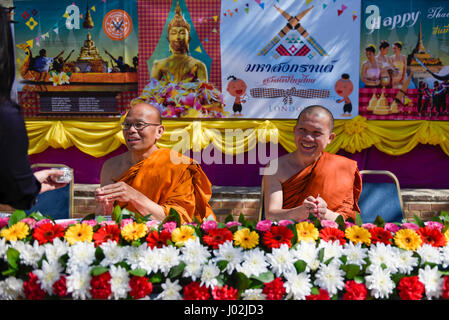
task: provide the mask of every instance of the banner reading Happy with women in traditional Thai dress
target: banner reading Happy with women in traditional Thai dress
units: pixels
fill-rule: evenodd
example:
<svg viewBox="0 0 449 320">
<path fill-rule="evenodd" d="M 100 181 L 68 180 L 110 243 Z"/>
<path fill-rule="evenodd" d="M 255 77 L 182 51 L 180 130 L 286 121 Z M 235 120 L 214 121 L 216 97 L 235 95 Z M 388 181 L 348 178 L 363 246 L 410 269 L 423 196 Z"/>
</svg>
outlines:
<svg viewBox="0 0 449 320">
<path fill-rule="evenodd" d="M 362 1 L 359 114 L 449 120 L 448 32 L 447 1 Z"/>
</svg>

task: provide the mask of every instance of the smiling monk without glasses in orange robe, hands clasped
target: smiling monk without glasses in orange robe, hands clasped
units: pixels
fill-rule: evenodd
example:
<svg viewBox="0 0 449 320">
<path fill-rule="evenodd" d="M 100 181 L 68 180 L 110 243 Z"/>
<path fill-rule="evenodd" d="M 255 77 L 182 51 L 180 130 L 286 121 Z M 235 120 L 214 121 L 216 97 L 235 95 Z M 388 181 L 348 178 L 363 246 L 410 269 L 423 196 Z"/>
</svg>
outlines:
<svg viewBox="0 0 449 320">
<path fill-rule="evenodd" d="M 335 138 L 332 113 L 312 105 L 294 127 L 296 150 L 277 161 L 278 171 L 264 176 L 265 216 L 270 220 L 355 220 L 362 179 L 357 162 L 325 152 Z M 272 164 L 269 164 L 270 167 Z"/>
</svg>

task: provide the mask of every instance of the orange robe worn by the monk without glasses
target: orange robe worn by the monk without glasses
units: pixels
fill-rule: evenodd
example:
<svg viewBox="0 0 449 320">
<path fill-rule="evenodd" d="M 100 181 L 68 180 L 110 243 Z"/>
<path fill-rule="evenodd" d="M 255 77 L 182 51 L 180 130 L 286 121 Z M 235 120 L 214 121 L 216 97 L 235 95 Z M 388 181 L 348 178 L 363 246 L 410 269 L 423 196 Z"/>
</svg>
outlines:
<svg viewBox="0 0 449 320">
<path fill-rule="evenodd" d="M 355 221 L 355 211 L 360 212 L 362 178 L 356 161 L 323 152 L 317 161 L 282 183 L 282 191 L 283 209 L 302 205 L 308 196 L 320 195 L 329 210 Z"/>
</svg>

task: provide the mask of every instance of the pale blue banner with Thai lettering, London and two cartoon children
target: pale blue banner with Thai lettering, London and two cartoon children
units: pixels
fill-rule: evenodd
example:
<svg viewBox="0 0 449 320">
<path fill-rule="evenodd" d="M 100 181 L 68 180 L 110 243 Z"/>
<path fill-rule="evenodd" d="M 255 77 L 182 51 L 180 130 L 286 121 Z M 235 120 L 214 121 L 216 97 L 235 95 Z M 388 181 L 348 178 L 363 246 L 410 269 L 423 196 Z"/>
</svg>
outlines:
<svg viewBox="0 0 449 320">
<path fill-rule="evenodd" d="M 228 117 L 292 119 L 312 104 L 336 119 L 357 116 L 360 8 L 360 0 L 222 1 Z"/>
</svg>

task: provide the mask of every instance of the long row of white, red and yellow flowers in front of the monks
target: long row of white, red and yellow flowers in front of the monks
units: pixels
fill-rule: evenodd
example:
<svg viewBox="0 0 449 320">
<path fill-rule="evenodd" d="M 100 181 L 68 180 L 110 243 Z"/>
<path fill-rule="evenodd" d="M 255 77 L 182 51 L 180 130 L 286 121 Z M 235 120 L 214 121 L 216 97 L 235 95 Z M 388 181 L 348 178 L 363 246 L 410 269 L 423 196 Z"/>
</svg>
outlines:
<svg viewBox="0 0 449 320">
<path fill-rule="evenodd" d="M 449 213 L 432 221 L 180 224 L 116 207 L 0 219 L 0 299 L 449 299 Z"/>
</svg>

